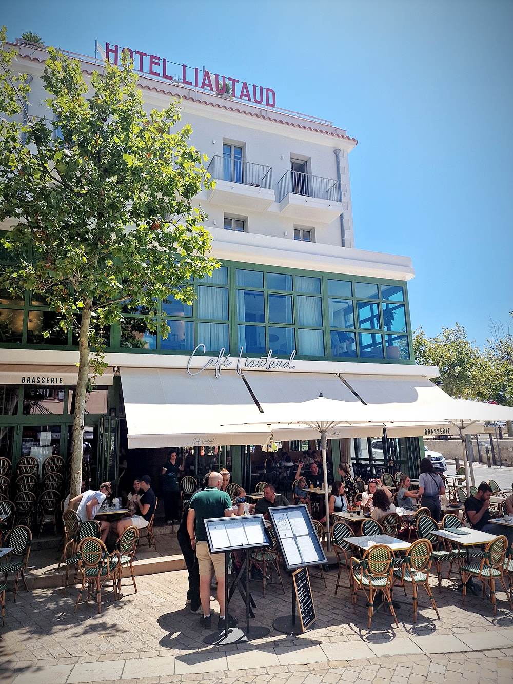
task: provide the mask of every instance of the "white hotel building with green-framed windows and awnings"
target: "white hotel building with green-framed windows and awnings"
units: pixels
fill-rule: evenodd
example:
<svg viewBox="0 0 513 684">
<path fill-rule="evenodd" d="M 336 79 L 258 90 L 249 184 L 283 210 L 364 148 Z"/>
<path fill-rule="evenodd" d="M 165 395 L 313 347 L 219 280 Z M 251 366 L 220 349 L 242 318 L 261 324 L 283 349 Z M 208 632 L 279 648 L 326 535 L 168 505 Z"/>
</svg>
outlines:
<svg viewBox="0 0 513 684">
<path fill-rule="evenodd" d="M 31 114 L 48 116 L 40 80 L 47 51 L 17 47 L 19 69 L 31 79 Z M 119 50 L 107 45 L 111 61 Z M 259 435 L 234 437 L 220 428 L 237 422 L 241 406 L 252 407 L 257 420 L 257 402 L 304 401 L 321 392 L 357 395 L 367 404 L 430 403 L 439 392 L 430 382 L 436 369 L 415 366 L 412 356 L 410 258 L 355 246 L 349 156 L 356 140 L 331 122 L 272 106 L 270 89 L 228 79 L 233 96 L 217 94 L 215 75 L 134 53 L 146 105 L 165 107 L 180 96 L 192 144 L 209 157 L 215 187 L 198 202 L 222 267 L 194 283 L 192 306 L 161 304 L 167 339 L 144 332 L 136 312 L 111 328 L 109 370 L 86 416 L 98 481 L 116 471 L 120 449 L 133 474 L 144 468 L 155 475 L 167 448 L 176 446 L 194 447 L 187 465 L 196 473 L 228 464 L 233 481 L 250 488 L 251 473 L 263 463 Z M 79 59 L 86 75 L 101 65 Z M 217 83 L 222 90 L 222 77 Z M 14 463 L 33 449 L 69 453 L 78 355 L 72 332 L 42 337 L 53 316 L 30 293 L 25 300 L 0 298 L 0 455 Z M 198 345 L 206 353 L 191 360 Z M 192 375 L 206 357 L 215 360 L 211 367 Z M 237 366 L 248 372 L 242 376 Z M 34 386 L 40 376 L 58 378 L 57 389 Z M 43 433 L 47 440 L 51 433 L 51 445 L 43 445 Z M 332 438 L 333 462 L 351 459 L 356 472 L 379 472 L 389 464 L 369 458 L 365 437 L 373 436 Z M 300 440 L 283 447 L 316 446 Z M 413 476 L 421 449 L 419 438 L 388 440 L 385 460 L 390 451 L 396 469 Z"/>
</svg>

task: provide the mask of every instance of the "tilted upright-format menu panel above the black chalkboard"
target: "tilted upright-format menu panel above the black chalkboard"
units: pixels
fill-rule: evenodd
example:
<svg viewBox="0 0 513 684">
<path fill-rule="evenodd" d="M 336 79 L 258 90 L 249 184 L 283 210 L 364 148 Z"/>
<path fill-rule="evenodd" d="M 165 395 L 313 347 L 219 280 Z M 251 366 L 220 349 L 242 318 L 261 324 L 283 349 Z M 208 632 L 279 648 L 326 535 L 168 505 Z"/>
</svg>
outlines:
<svg viewBox="0 0 513 684">
<path fill-rule="evenodd" d="M 269 508 L 287 570 L 327 563 L 324 549 L 304 505 Z"/>
</svg>

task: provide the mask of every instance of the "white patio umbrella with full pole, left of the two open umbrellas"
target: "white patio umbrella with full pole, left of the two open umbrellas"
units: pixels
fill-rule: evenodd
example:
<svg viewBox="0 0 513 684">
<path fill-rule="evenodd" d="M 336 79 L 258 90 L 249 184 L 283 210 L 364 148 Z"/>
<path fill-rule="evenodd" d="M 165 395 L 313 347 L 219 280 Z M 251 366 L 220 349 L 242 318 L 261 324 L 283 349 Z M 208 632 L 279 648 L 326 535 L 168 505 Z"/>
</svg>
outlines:
<svg viewBox="0 0 513 684">
<path fill-rule="evenodd" d="M 382 430 L 385 421 L 397 418 L 397 410 L 382 406 L 367 406 L 358 400 L 344 402 L 339 399 L 328 399 L 322 395 L 307 402 L 287 402 L 283 404 L 263 404 L 263 413 L 259 424 L 267 425 L 274 436 L 282 438 L 298 438 L 302 434 L 311 433 L 320 437 L 322 463 L 324 468 L 324 503 L 326 506 L 326 536 L 328 551 L 331 551 L 330 516 L 328 501 L 328 466 L 326 463 L 326 442 L 328 432 L 342 428 L 346 434 L 352 428 L 358 434 L 364 428 Z M 242 423 L 252 425 L 252 421 Z"/>
</svg>

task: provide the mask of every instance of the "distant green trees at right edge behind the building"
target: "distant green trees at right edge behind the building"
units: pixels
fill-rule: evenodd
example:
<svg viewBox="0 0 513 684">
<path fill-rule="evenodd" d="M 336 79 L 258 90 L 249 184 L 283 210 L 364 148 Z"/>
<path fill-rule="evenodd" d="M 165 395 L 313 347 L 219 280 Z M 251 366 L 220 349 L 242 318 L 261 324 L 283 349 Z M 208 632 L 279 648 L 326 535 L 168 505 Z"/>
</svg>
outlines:
<svg viewBox="0 0 513 684">
<path fill-rule="evenodd" d="M 453 397 L 513 406 L 513 337 L 500 325 L 494 331 L 481 351 L 458 323 L 434 338 L 419 328 L 413 336 L 415 360 L 438 366 L 443 389 Z"/>
</svg>

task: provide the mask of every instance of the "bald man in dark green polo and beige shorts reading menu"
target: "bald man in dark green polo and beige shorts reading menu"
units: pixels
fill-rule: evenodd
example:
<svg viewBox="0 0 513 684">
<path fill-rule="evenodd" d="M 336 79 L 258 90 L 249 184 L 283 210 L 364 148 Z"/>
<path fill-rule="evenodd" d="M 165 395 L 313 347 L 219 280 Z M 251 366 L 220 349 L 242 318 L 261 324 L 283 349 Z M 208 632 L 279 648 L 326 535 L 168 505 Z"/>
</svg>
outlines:
<svg viewBox="0 0 513 684">
<path fill-rule="evenodd" d="M 198 567 L 200 570 L 200 599 L 203 609 L 201 618 L 202 626 L 211 629 L 210 616 L 210 580 L 212 568 L 218 578 L 218 603 L 219 621 L 218 629 L 225 627 L 225 620 L 228 627 L 235 627 L 237 620 L 226 616 L 224 605 L 224 553 L 210 553 L 207 543 L 207 530 L 205 529 L 206 518 L 229 518 L 234 515 L 233 504 L 230 496 L 221 490 L 223 477 L 220 473 L 210 473 L 209 486 L 200 492 L 192 495 L 189 503 L 189 513 L 187 514 L 187 531 L 191 538 L 192 548 L 196 550 Z M 196 521 L 196 532 L 194 522 Z"/>
</svg>

